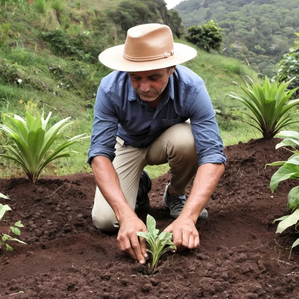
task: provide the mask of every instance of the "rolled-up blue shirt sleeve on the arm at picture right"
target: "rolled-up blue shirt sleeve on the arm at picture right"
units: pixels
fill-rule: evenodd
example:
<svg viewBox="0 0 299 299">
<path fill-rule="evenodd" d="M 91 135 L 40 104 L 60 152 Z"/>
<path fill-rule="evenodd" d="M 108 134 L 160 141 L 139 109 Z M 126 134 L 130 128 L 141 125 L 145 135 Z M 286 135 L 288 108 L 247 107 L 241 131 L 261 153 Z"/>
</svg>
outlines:
<svg viewBox="0 0 299 299">
<path fill-rule="evenodd" d="M 199 166 L 206 163 L 225 163 L 226 156 L 223 154 L 223 141 L 215 111 L 203 81 L 193 94 L 188 110 Z"/>
</svg>

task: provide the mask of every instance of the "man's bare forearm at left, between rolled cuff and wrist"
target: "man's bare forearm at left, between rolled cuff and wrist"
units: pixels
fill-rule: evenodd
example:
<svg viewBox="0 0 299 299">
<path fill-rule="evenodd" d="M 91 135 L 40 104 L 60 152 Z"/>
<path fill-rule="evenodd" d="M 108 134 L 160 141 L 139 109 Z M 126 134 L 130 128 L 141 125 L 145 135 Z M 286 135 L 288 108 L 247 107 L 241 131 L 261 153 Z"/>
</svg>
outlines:
<svg viewBox="0 0 299 299">
<path fill-rule="evenodd" d="M 94 157 L 91 161 L 91 169 L 97 186 L 114 211 L 117 220 L 120 222 L 122 216 L 135 214 L 126 201 L 118 174 L 110 159 L 105 156 Z"/>
</svg>

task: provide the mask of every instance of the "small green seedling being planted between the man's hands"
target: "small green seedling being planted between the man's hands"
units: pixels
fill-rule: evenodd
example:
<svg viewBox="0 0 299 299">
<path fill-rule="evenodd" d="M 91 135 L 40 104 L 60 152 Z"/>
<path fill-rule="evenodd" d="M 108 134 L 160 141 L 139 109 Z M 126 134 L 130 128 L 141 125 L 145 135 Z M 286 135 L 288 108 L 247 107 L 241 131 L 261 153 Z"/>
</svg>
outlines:
<svg viewBox="0 0 299 299">
<path fill-rule="evenodd" d="M 144 237 L 147 240 L 149 245 L 147 252 L 152 254 L 152 262 L 149 263 L 149 274 L 153 274 L 158 269 L 158 261 L 161 255 L 170 251 L 170 249 L 176 250 L 176 245 L 171 241 L 172 233 L 162 231 L 158 235 L 159 230 L 156 228 L 156 221 L 150 215 L 147 215 L 147 230 L 148 233 L 141 231 L 137 233 L 137 236 Z"/>
</svg>

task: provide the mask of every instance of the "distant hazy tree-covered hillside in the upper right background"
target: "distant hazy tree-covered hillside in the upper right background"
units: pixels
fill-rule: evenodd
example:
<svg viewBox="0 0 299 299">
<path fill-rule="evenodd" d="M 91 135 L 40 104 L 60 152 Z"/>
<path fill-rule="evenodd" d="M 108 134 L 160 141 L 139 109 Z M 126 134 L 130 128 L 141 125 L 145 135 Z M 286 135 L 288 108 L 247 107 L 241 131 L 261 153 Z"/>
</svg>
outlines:
<svg viewBox="0 0 299 299">
<path fill-rule="evenodd" d="M 177 9 L 185 27 L 210 19 L 223 30 L 223 54 L 272 75 L 274 65 L 289 51 L 299 31 L 299 1 L 188 0 Z"/>
</svg>

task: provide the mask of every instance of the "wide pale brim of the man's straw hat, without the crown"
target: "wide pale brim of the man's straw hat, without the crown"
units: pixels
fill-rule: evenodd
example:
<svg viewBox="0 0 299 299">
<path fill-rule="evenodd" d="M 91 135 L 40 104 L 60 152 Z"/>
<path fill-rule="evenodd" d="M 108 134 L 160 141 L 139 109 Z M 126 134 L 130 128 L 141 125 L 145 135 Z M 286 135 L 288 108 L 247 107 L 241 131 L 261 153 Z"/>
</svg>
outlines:
<svg viewBox="0 0 299 299">
<path fill-rule="evenodd" d="M 174 53 L 167 58 L 138 62 L 130 61 L 123 57 L 123 49 L 125 45 L 119 45 L 103 51 L 99 55 L 99 60 L 103 63 L 103 65 L 106 65 L 108 68 L 112 68 L 116 71 L 136 72 L 167 68 L 196 57 L 197 51 L 194 48 L 177 42 L 173 44 Z"/>
</svg>

